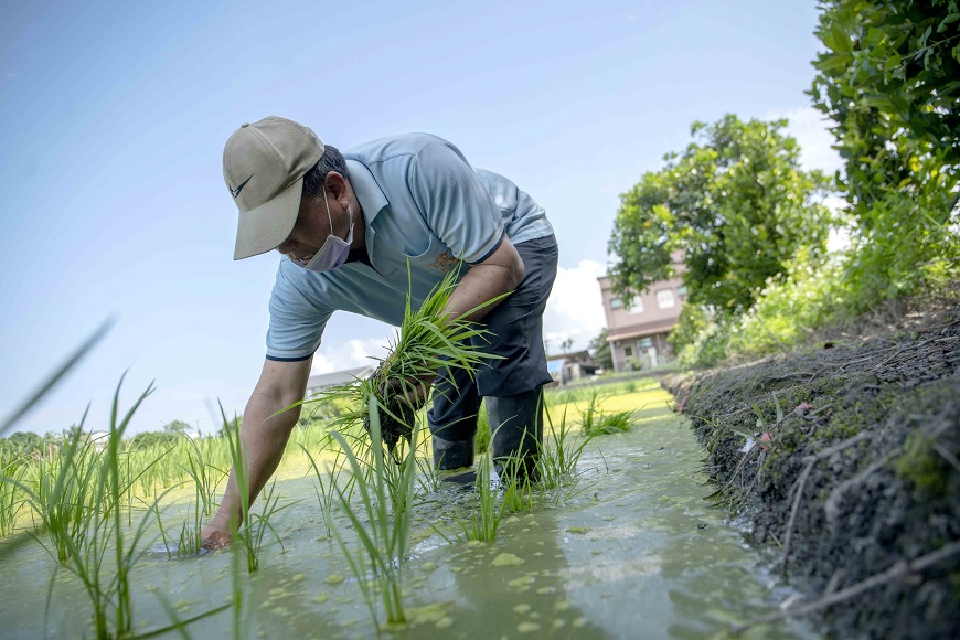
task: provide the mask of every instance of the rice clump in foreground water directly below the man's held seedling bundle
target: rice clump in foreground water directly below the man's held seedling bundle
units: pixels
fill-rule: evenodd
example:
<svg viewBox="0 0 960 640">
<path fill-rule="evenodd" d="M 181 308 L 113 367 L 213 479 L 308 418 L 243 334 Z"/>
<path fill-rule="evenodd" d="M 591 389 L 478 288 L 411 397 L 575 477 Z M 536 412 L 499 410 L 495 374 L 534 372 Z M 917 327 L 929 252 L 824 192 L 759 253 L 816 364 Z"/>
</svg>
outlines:
<svg viewBox="0 0 960 640">
<path fill-rule="evenodd" d="M 349 495 L 334 483 L 341 509 L 356 532 L 360 548 L 351 548 L 335 527 L 333 533 L 351 572 L 356 577 L 371 618 L 377 629 L 382 629 L 376 615 L 377 598 L 383 604 L 387 625 L 406 622 L 402 572 L 413 518 L 418 429 L 412 429 L 412 441 L 408 447 L 403 442 L 399 444 L 399 462 L 386 463 L 381 436 L 378 401 L 372 388 L 367 387 L 367 394 L 371 437 L 369 454 L 372 460 L 367 463 L 362 462 L 342 434 L 332 434 L 346 456 L 360 495 L 361 511 L 358 514 Z M 369 531 L 364 527 L 361 515 L 369 523 Z"/>
</svg>

